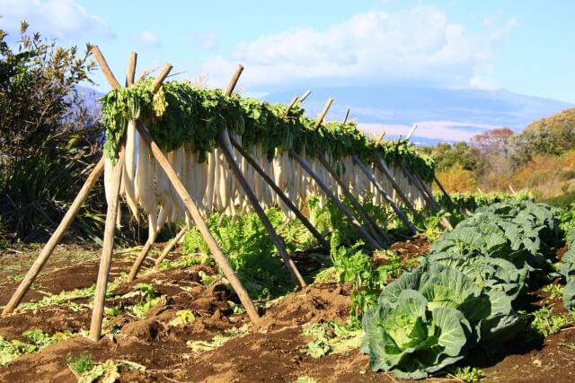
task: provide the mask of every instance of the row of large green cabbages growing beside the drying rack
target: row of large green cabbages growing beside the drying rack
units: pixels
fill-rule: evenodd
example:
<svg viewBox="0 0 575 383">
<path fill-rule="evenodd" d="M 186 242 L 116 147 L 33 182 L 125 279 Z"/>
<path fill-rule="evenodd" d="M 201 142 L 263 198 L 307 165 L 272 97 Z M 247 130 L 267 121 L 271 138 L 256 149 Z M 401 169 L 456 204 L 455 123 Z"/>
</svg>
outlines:
<svg viewBox="0 0 575 383">
<path fill-rule="evenodd" d="M 531 201 L 482 207 L 460 222 L 422 265 L 385 286 L 362 318 L 361 349 L 372 369 L 422 379 L 477 344 L 519 334 L 525 327 L 513 302 L 538 287 L 537 273 L 551 269 L 560 232 L 558 210 Z M 544 314 L 532 326 L 546 323 L 545 334 L 567 323 Z"/>
</svg>

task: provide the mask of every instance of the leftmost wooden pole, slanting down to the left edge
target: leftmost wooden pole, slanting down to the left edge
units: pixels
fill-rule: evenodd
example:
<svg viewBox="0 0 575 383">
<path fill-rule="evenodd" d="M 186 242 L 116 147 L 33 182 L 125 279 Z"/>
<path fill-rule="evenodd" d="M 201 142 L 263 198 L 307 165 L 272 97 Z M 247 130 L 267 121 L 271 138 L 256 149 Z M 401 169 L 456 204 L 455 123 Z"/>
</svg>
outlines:
<svg viewBox="0 0 575 383">
<path fill-rule="evenodd" d="M 9 314 L 13 312 L 13 310 L 20 304 L 22 298 L 30 289 L 31 284 L 36 280 L 38 274 L 40 274 L 40 270 L 46 264 L 49 257 L 52 255 L 54 248 L 56 248 L 57 243 L 62 239 L 64 233 L 66 232 L 67 228 L 70 226 L 70 223 L 74 220 L 76 214 L 80 211 L 80 208 L 84 204 L 84 201 L 88 194 L 90 194 L 90 190 L 92 190 L 93 185 L 96 183 L 100 175 L 102 174 L 102 170 L 104 170 L 104 158 L 102 157 L 100 161 L 96 163 L 92 172 L 86 180 L 84 181 L 84 185 L 80 189 L 80 192 L 75 196 L 74 202 L 70 205 L 70 208 L 62 218 L 62 221 L 57 225 L 56 231 L 52 234 L 49 241 L 44 245 L 44 248 L 40 251 L 40 255 L 34 261 L 34 264 L 31 265 L 30 270 L 22 279 L 22 282 L 16 289 L 16 292 L 13 293 L 12 298 L 2 311 L 2 315 Z"/>
</svg>

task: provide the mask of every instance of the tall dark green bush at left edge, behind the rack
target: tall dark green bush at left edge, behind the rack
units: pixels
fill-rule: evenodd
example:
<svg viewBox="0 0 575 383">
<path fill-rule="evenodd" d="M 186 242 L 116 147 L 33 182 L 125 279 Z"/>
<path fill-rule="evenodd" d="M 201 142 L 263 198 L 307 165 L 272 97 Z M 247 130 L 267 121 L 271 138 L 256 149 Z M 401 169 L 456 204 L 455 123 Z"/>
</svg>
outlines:
<svg viewBox="0 0 575 383">
<path fill-rule="evenodd" d="M 99 158 L 101 135 L 77 88 L 93 69 L 88 50 L 57 47 L 27 30 L 22 22 L 15 46 L 0 30 L 0 238 L 28 242 L 55 229 L 93 168 L 86 164 Z M 85 206 L 73 232 L 98 239 L 102 187 Z"/>
</svg>

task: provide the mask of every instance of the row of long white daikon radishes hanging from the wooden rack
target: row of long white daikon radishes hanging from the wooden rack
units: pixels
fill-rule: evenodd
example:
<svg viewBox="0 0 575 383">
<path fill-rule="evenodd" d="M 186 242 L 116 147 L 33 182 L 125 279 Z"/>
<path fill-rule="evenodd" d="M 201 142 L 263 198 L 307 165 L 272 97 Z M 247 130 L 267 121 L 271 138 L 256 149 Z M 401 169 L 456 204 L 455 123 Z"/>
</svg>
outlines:
<svg viewBox="0 0 575 383">
<path fill-rule="evenodd" d="M 240 135 L 233 135 L 233 137 L 238 144 L 242 144 Z M 254 146 L 252 150 L 247 152 L 300 209 L 304 207 L 310 196 L 319 196 L 320 203 L 325 202 L 325 198 L 314 179 L 299 166 L 296 160 L 291 158 L 288 151 L 280 152 L 276 149 L 272 161 L 267 160 L 261 144 Z M 226 158 L 221 149 L 216 148 L 212 152 L 208 152 L 208 161 L 204 163 L 199 163 L 198 152 L 188 150 L 185 145 L 166 154 L 168 161 L 198 205 L 201 213 L 223 212 L 227 215 L 234 215 L 238 210 L 250 209 L 248 199 L 228 169 Z M 306 155 L 305 152 L 299 154 L 332 191 L 342 195 L 341 187 L 320 161 Z M 234 157 L 243 177 L 252 187 L 262 207 L 265 209 L 270 206 L 279 206 L 287 216 L 291 217 L 292 213 L 288 206 L 271 190 L 239 152 L 234 150 Z M 326 152 L 324 157 L 334 169 L 340 171 L 342 181 L 349 187 L 353 195 L 358 196 L 359 200 L 370 196 L 373 198 L 374 204 L 385 204 L 384 196 L 377 191 L 377 188 L 367 179 L 350 156 L 334 159 L 330 153 Z M 106 161 L 106 168 L 106 193 L 110 193 L 108 187 L 108 179 L 111 175 L 110 161 Z M 402 187 L 404 194 L 416 208 L 419 208 L 422 201 L 415 187 L 412 187 L 407 178 L 403 177 L 398 167 L 392 166 L 390 170 L 394 175 L 395 182 Z M 398 196 L 395 196 L 394 189 L 386 180 L 385 175 L 375 168 L 372 168 L 371 171 L 389 196 L 399 202 Z M 166 223 L 185 221 L 187 224 L 191 224 L 190 217 L 185 213 L 180 197 L 177 196 L 164 170 L 156 164 L 146 144 L 137 135 L 135 124 L 131 122 L 128 124 L 127 130 L 126 161 L 122 173 L 120 195 L 126 200 L 135 217 L 139 217 L 138 211 L 140 209 L 147 214 L 150 239 L 155 240 L 157 232 Z"/>
</svg>

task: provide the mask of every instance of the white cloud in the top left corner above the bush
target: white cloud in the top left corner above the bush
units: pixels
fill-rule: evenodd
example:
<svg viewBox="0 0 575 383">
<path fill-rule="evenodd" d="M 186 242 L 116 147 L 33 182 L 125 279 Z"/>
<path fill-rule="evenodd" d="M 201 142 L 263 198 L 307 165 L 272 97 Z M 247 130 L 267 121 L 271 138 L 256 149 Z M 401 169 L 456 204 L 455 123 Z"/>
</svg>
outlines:
<svg viewBox="0 0 575 383">
<path fill-rule="evenodd" d="M 0 9 L 0 24 L 11 33 L 19 30 L 20 22 L 25 20 L 31 30 L 40 30 L 46 37 L 115 37 L 102 17 L 87 13 L 75 0 L 0 0 Z"/>
</svg>

